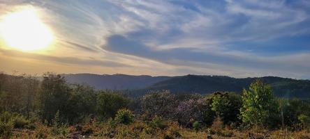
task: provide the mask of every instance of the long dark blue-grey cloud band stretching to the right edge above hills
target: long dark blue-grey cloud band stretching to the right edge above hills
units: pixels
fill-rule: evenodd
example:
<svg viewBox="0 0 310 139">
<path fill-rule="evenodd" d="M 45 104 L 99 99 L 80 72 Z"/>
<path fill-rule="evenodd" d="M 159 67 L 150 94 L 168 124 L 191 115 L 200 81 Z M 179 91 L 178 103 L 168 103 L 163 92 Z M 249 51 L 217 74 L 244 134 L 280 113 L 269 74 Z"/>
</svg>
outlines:
<svg viewBox="0 0 310 139">
<path fill-rule="evenodd" d="M 307 72 L 307 70 L 310 69 L 310 65 L 304 65 L 304 63 L 307 63 L 305 59 L 307 57 L 310 58 L 309 53 L 302 55 L 298 54 L 297 56 L 273 56 L 269 58 L 252 55 L 252 58 L 249 58 L 249 56 L 235 56 L 229 53 L 216 54 L 212 52 L 199 51 L 199 49 L 197 50 L 177 48 L 156 50 L 147 47 L 145 44 L 130 40 L 130 38 L 126 38 L 121 35 L 112 35 L 111 37 L 109 37 L 108 43 L 103 46 L 103 49 L 121 54 L 128 54 L 133 56 L 140 56 L 142 58 L 158 60 L 161 63 L 168 63 L 172 65 L 188 65 L 188 63 L 184 63 L 187 61 L 194 63 L 197 62 L 226 65 L 231 67 L 251 67 L 256 70 L 281 70 L 285 68 L 288 71 L 293 70 Z M 183 61 L 183 63 L 180 61 Z M 290 62 L 290 64 L 288 65 L 287 62 L 289 61 L 294 62 Z"/>
</svg>

